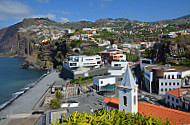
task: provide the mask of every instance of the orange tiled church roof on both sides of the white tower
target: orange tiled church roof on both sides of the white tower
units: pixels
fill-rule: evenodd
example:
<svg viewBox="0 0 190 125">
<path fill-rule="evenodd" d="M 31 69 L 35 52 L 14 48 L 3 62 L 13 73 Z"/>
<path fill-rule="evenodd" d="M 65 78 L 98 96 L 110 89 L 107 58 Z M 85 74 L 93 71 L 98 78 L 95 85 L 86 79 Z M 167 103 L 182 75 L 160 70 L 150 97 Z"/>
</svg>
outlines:
<svg viewBox="0 0 190 125">
<path fill-rule="evenodd" d="M 107 103 L 107 106 L 119 109 L 119 99 L 118 98 L 104 98 L 102 102 Z M 176 124 L 190 124 L 190 113 L 178 111 L 175 109 L 170 109 L 167 107 L 161 107 L 146 102 L 138 103 L 138 112 L 141 114 L 146 114 L 153 118 L 168 118 L 168 121 Z"/>
</svg>

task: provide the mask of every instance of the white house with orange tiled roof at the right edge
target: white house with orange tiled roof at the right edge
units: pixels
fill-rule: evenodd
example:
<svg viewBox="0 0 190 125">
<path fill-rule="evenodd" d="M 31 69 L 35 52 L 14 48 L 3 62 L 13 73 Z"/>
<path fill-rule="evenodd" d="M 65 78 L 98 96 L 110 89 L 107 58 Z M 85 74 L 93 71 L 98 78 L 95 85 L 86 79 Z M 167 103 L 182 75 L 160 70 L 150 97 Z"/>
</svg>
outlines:
<svg viewBox="0 0 190 125">
<path fill-rule="evenodd" d="M 166 92 L 165 103 L 175 109 L 190 111 L 190 88 L 177 88 Z"/>
</svg>

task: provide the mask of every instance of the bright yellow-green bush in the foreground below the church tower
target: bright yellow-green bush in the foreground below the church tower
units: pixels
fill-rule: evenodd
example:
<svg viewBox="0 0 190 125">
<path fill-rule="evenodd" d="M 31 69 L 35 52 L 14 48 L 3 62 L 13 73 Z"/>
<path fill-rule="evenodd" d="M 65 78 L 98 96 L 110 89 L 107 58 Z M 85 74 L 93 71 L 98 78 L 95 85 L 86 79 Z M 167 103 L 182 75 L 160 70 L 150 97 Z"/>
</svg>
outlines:
<svg viewBox="0 0 190 125">
<path fill-rule="evenodd" d="M 52 125 L 170 125 L 167 119 L 153 119 L 152 116 L 140 113 L 132 114 L 124 111 L 99 109 L 92 113 L 78 113 L 77 111 L 69 117 L 63 116 L 63 123 L 59 120 Z"/>
</svg>

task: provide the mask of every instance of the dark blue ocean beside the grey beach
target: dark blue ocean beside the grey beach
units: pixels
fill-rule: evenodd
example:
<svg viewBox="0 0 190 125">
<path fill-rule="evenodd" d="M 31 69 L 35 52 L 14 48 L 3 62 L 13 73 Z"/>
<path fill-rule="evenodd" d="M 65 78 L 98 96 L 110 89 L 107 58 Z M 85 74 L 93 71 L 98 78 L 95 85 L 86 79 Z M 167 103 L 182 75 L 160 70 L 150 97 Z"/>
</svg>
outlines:
<svg viewBox="0 0 190 125">
<path fill-rule="evenodd" d="M 23 61 L 21 58 L 0 57 L 0 109 L 35 85 L 46 73 L 19 69 Z"/>
</svg>

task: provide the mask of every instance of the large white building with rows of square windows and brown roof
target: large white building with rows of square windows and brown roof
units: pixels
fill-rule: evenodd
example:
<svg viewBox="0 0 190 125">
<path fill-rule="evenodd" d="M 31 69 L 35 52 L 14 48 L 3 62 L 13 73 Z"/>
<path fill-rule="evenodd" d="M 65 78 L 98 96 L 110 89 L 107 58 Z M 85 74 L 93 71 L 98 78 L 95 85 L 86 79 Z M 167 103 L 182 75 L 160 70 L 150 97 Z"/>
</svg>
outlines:
<svg viewBox="0 0 190 125">
<path fill-rule="evenodd" d="M 144 67 L 143 75 L 148 92 L 165 95 L 167 91 L 181 88 L 182 78 L 190 75 L 190 68 L 149 65 Z"/>
</svg>

